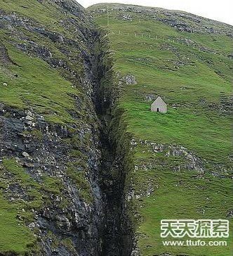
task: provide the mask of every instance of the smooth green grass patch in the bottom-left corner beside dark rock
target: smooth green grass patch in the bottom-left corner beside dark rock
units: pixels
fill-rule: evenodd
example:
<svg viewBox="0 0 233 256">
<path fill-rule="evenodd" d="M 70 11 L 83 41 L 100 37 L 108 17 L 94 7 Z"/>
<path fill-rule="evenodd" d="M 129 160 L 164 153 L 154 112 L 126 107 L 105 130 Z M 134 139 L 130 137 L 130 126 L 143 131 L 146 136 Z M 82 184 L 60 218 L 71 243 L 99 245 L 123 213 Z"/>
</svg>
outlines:
<svg viewBox="0 0 233 256">
<path fill-rule="evenodd" d="M 7 178 L 6 172 L 11 176 Z M 33 221 L 32 209 L 39 209 L 43 203 L 39 193 L 39 185 L 13 159 L 4 159 L 0 165 L 0 252 L 16 252 L 25 255 L 36 243 L 32 231 L 27 229 L 25 222 Z M 12 203 L 6 200 L 8 195 L 2 188 L 20 186 L 26 192 L 29 201 L 16 198 Z M 24 211 L 22 211 L 24 209 Z M 21 217 L 19 220 L 18 217 Z"/>
</svg>

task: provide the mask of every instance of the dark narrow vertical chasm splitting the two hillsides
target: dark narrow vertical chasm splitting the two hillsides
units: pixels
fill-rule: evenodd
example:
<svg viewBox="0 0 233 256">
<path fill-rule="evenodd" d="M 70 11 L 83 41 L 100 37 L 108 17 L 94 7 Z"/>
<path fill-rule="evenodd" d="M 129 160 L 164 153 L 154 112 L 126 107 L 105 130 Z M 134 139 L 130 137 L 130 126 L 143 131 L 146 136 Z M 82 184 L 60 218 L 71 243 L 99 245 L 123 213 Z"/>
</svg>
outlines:
<svg viewBox="0 0 233 256">
<path fill-rule="evenodd" d="M 100 121 L 100 188 L 105 202 L 104 228 L 102 230 L 102 251 L 100 256 L 128 256 L 133 250 L 131 220 L 126 209 L 126 167 L 124 155 L 117 151 L 113 139 L 114 118 L 114 72 L 108 55 L 108 41 L 101 32 L 95 34 L 93 56 L 93 77 L 95 111 Z M 117 124 L 116 124 L 117 125 Z"/>
</svg>

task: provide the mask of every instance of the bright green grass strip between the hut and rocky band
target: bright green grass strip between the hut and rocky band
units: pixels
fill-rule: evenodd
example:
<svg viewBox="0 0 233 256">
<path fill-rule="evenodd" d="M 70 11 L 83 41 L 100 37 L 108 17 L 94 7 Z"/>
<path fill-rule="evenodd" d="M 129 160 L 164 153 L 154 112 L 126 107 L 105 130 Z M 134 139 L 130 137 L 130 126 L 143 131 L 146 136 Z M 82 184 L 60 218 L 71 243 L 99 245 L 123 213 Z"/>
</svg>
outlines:
<svg viewBox="0 0 233 256">
<path fill-rule="evenodd" d="M 211 111 L 195 113 L 196 108 L 192 112 L 183 108 L 168 110 L 166 115 L 154 115 L 145 103 L 125 103 L 124 107 L 128 110 L 128 131 L 133 134 L 136 129 L 138 138 L 164 144 L 178 143 L 211 162 L 227 162 L 228 155 L 223 158 L 222 151 L 229 153 L 231 150 L 231 141 L 224 139 L 231 136 L 231 122 L 225 117 Z"/>
</svg>

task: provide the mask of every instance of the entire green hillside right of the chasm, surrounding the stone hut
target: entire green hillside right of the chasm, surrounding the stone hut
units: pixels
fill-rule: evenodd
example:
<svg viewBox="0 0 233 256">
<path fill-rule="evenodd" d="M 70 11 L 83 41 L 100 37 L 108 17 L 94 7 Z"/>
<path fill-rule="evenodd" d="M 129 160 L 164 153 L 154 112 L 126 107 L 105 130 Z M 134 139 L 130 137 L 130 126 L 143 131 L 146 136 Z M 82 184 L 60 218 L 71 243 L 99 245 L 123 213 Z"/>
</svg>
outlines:
<svg viewBox="0 0 233 256">
<path fill-rule="evenodd" d="M 227 246 L 165 247 L 160 221 L 232 218 L 232 27 L 159 8 L 108 9 L 109 20 L 106 4 L 89 11 L 107 31 L 132 136 L 138 250 L 229 256 L 230 238 Z M 150 111 L 158 95 L 164 115 Z"/>
</svg>

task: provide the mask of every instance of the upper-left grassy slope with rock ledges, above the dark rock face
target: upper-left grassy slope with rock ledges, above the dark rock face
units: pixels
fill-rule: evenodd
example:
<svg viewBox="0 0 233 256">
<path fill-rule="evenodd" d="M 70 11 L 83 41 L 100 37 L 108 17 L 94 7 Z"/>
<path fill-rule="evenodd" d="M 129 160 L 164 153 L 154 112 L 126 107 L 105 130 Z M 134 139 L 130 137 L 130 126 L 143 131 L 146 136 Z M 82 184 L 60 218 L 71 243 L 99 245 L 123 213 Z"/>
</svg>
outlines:
<svg viewBox="0 0 233 256">
<path fill-rule="evenodd" d="M 46 120 L 63 124 L 74 122 L 70 113 L 82 115 L 77 113 L 74 97 L 84 94 L 80 80 L 84 75 L 81 51 L 85 49 L 88 53 L 88 49 L 84 34 L 76 26 L 85 30 L 91 23 L 81 6 L 74 6 L 74 12 L 75 8 L 79 16 L 66 13 L 53 1 L 1 0 L 2 15 L 12 25 L 16 23 L 18 31 L 9 31 L 6 20 L 2 20 L 0 47 L 6 49 L 12 61 L 0 63 L 2 103 L 14 108 L 33 108 Z"/>
</svg>

